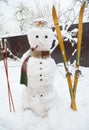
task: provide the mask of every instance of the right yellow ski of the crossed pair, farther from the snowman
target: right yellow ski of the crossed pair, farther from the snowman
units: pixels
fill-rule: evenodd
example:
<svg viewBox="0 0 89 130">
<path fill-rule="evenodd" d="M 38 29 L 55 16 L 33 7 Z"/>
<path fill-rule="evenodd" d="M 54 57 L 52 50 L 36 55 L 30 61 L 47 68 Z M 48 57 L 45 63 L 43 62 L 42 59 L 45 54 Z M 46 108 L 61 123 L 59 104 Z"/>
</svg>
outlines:
<svg viewBox="0 0 89 130">
<path fill-rule="evenodd" d="M 83 13 L 84 13 L 84 8 L 85 8 L 85 2 L 81 6 L 80 12 L 79 12 L 79 21 L 78 21 L 78 43 L 77 43 L 77 53 L 76 53 L 76 71 L 75 71 L 75 76 L 74 76 L 74 86 L 73 86 L 73 92 L 74 96 L 76 95 L 76 88 L 78 84 L 78 78 L 80 75 L 80 70 L 79 70 L 79 64 L 80 64 L 80 53 L 81 53 L 81 43 L 82 43 L 82 30 L 83 30 Z"/>
</svg>

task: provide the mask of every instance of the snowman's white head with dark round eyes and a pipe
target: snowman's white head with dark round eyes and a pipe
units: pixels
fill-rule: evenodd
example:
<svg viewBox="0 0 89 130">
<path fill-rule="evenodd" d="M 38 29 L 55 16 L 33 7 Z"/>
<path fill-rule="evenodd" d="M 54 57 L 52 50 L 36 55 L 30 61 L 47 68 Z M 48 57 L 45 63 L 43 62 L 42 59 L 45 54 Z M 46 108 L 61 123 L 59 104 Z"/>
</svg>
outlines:
<svg viewBox="0 0 89 130">
<path fill-rule="evenodd" d="M 32 28 L 28 31 L 28 40 L 33 51 L 50 51 L 55 36 L 51 29 Z"/>
</svg>

